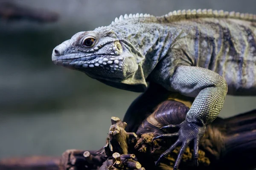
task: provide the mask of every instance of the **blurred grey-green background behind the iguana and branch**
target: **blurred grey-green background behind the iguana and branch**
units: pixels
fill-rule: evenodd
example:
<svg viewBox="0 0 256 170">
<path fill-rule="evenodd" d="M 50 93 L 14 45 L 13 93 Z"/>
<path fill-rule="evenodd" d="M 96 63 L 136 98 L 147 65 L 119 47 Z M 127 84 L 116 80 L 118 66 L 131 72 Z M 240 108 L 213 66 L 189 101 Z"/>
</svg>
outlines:
<svg viewBox="0 0 256 170">
<path fill-rule="evenodd" d="M 37 19 L 11 20 L 18 10 L 5 11 L 6 2 L 26 14 L 32 10 Z M 256 14 L 255 0 L 0 0 L 0 159 L 97 150 L 105 144 L 111 116 L 122 119 L 139 95 L 55 66 L 56 45 L 121 14 L 193 8 Z M 227 96 L 220 116 L 252 110 L 255 103 L 256 97 Z"/>
</svg>

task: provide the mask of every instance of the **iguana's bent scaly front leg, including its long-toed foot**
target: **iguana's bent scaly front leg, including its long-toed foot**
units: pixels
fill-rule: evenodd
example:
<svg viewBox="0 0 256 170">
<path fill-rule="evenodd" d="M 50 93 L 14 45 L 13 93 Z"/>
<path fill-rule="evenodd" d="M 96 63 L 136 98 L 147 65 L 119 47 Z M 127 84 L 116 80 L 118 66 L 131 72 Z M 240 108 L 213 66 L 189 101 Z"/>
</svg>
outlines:
<svg viewBox="0 0 256 170">
<path fill-rule="evenodd" d="M 221 111 L 227 94 L 227 82 L 219 74 L 208 69 L 181 65 L 176 68 L 171 77 L 170 85 L 173 90 L 185 96 L 195 97 L 192 107 L 186 114 L 185 121 L 180 125 L 166 126 L 179 127 L 180 130 L 177 133 L 154 137 L 154 139 L 160 139 L 179 136 L 177 141 L 156 161 L 158 164 L 163 157 L 181 144 L 180 153 L 174 165 L 174 170 L 177 170 L 184 150 L 192 141 L 194 141 L 195 162 L 198 164 L 199 141 L 204 136 L 206 125 L 211 123 Z"/>
</svg>

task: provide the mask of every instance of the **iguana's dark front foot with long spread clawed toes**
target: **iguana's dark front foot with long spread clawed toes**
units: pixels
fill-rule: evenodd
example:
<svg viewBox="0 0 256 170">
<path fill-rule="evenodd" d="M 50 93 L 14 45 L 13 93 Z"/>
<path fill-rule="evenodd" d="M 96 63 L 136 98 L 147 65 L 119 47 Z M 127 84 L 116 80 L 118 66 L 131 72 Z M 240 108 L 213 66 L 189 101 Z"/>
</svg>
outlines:
<svg viewBox="0 0 256 170">
<path fill-rule="evenodd" d="M 155 164 L 159 164 L 159 162 L 167 155 L 169 155 L 175 148 L 179 145 L 181 145 L 180 152 L 177 156 L 177 159 L 175 161 L 173 170 L 177 170 L 180 161 L 182 159 L 183 153 L 186 150 L 186 147 L 189 145 L 190 142 L 194 141 L 194 159 L 195 159 L 195 165 L 198 166 L 198 145 L 200 139 L 204 136 L 204 132 L 206 130 L 206 125 L 197 125 L 193 122 L 187 122 L 186 120 L 180 123 L 179 125 L 167 125 L 163 126 L 161 129 L 166 128 L 173 128 L 178 127 L 180 128 L 178 132 L 176 133 L 168 133 L 163 134 L 160 136 L 154 137 L 152 140 L 155 139 L 164 139 L 164 138 L 171 138 L 174 136 L 178 136 L 177 141 L 172 144 L 169 149 L 167 149 L 164 153 L 162 153 L 159 157 L 159 159 L 155 162 Z"/>
</svg>

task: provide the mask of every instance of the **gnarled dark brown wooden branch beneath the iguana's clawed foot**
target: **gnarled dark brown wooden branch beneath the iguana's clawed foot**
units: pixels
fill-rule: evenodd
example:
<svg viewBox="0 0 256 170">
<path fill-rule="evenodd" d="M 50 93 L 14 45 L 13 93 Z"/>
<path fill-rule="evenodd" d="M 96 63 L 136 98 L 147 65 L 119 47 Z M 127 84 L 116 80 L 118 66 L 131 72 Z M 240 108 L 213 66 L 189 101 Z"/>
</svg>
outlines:
<svg viewBox="0 0 256 170">
<path fill-rule="evenodd" d="M 189 108 L 182 101 L 166 100 L 161 102 L 155 111 L 143 121 L 136 134 L 127 133 L 124 130 L 127 124 L 119 118 L 112 117 L 110 135 L 105 145 L 105 150 L 109 150 L 107 156 L 84 150 L 67 150 L 63 153 L 61 161 L 45 157 L 6 159 L 0 161 L 0 169 L 56 169 L 59 163 L 62 170 L 83 169 L 84 167 L 87 167 L 88 170 L 143 170 L 143 167 L 146 170 L 172 169 L 180 147 L 167 156 L 160 167 L 155 167 L 154 161 L 164 150 L 168 149 L 175 139 L 157 140 L 153 143 L 151 143 L 151 139 L 166 133 L 160 129 L 161 126 L 182 122 L 188 110 Z M 132 139 L 129 139 L 129 136 Z M 197 169 L 193 165 L 192 145 L 187 147 L 183 155 L 180 170 Z M 198 168 L 201 170 L 250 170 L 255 168 L 256 110 L 227 119 L 215 119 L 212 124 L 207 126 L 199 149 Z"/>
</svg>

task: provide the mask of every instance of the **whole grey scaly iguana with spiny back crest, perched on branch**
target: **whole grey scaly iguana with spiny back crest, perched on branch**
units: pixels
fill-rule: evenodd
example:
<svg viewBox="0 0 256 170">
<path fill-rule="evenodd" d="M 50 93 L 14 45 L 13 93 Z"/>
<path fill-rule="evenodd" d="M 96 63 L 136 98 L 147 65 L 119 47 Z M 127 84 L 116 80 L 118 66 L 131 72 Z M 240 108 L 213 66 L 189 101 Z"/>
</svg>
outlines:
<svg viewBox="0 0 256 170">
<path fill-rule="evenodd" d="M 55 47 L 52 61 L 107 85 L 143 92 L 147 83 L 195 97 L 179 136 L 161 158 L 181 144 L 198 142 L 220 112 L 226 94 L 256 95 L 256 15 L 209 10 L 173 11 L 161 17 L 125 14 L 109 26 L 75 34 Z M 229 91 L 227 92 L 227 88 Z"/>
</svg>

